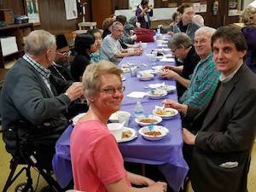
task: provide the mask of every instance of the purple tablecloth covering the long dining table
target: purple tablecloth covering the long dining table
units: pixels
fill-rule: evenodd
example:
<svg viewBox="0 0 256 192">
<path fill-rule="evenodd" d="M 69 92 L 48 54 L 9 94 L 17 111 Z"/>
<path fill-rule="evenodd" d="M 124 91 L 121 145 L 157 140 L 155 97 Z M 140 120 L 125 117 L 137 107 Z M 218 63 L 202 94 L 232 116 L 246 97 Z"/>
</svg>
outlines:
<svg viewBox="0 0 256 192">
<path fill-rule="evenodd" d="M 151 69 L 155 62 L 149 60 L 147 54 L 151 53 L 152 49 L 157 49 L 157 44 L 148 43 L 146 49 L 143 50 L 142 55 L 135 55 L 123 58 L 119 63 L 119 67 L 122 67 L 125 63 L 136 64 L 142 68 L 137 68 L 137 73 L 142 70 Z M 157 61 L 156 65 L 166 65 L 166 62 Z M 168 63 L 174 65 L 174 63 Z M 173 92 L 165 96 L 165 98 L 159 100 L 152 100 L 148 96 L 143 98 L 131 98 L 127 95 L 132 91 L 148 91 L 148 84 L 163 83 L 167 85 L 175 85 L 175 81 L 160 79 L 154 77 L 149 81 L 141 81 L 137 77 L 131 77 L 130 73 L 124 73 L 125 85 L 124 99 L 121 105 L 122 111 L 131 113 L 130 122 L 128 127 L 138 131 L 141 126 L 135 122 L 135 107 L 136 103 L 140 101 L 143 106 L 145 114 L 151 114 L 155 106 L 161 106 L 163 99 L 172 99 L 177 101 L 177 94 Z M 164 174 L 168 184 L 174 191 L 178 191 L 182 186 L 183 180 L 186 177 L 189 167 L 183 159 L 183 138 L 181 131 L 181 119 L 179 114 L 172 117 L 172 119 L 163 119 L 160 125 L 165 126 L 169 133 L 161 140 L 148 141 L 144 139 L 140 134 L 133 140 L 125 143 L 119 143 L 119 150 L 123 155 L 123 158 L 127 162 L 134 162 L 140 164 L 156 165 L 159 167 L 160 172 Z M 58 183 L 62 187 L 65 187 L 67 183 L 72 179 L 72 167 L 69 151 L 69 137 L 73 130 L 73 126 L 68 126 L 67 130 L 62 134 L 61 138 L 56 143 L 56 153 L 53 160 L 53 167 L 55 171 L 55 177 Z"/>
</svg>

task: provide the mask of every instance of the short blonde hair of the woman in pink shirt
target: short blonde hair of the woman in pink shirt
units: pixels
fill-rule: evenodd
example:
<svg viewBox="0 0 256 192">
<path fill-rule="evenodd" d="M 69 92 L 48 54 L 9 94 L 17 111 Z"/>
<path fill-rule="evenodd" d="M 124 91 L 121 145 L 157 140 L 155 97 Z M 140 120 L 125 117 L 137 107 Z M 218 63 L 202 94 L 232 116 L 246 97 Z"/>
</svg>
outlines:
<svg viewBox="0 0 256 192">
<path fill-rule="evenodd" d="M 97 63 L 90 64 L 86 67 L 83 74 L 83 90 L 84 96 L 88 101 L 88 96 L 96 96 L 96 91 L 100 88 L 100 76 L 102 74 L 113 74 L 119 76 L 120 82 L 121 74 L 123 71 L 119 69 L 113 62 L 110 61 L 99 61 Z"/>
</svg>

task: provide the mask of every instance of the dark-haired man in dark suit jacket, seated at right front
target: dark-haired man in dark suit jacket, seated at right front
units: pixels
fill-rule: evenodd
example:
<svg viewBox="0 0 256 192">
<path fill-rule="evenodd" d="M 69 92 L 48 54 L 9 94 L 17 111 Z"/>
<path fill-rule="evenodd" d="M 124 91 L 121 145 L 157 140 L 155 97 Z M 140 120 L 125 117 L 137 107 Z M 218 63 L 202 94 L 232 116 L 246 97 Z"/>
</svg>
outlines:
<svg viewBox="0 0 256 192">
<path fill-rule="evenodd" d="M 211 102 L 200 113 L 178 106 L 188 119 L 195 117 L 192 129 L 200 128 L 196 135 L 183 128 L 184 143 L 194 146 L 190 173 L 195 192 L 247 191 L 256 130 L 256 76 L 243 63 L 246 49 L 239 30 L 218 28 L 212 50 L 221 76 Z"/>
</svg>

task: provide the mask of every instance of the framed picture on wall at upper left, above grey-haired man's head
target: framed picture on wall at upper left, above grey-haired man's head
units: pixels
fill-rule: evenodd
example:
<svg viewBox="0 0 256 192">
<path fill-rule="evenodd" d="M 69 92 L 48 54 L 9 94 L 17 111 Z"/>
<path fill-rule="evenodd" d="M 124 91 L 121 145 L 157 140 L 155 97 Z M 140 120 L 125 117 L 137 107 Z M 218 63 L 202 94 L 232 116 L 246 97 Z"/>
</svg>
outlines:
<svg viewBox="0 0 256 192">
<path fill-rule="evenodd" d="M 28 22 L 33 23 L 34 26 L 39 26 L 40 15 L 38 9 L 38 0 L 24 0 L 25 13 L 28 16 Z"/>
</svg>

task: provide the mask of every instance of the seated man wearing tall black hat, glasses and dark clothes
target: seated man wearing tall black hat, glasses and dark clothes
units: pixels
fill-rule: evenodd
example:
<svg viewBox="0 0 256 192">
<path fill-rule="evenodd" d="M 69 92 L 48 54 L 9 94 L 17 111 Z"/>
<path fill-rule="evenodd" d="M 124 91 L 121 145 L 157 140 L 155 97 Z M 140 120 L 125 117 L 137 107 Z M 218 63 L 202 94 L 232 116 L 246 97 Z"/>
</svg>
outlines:
<svg viewBox="0 0 256 192">
<path fill-rule="evenodd" d="M 63 80 L 73 80 L 67 67 L 69 67 L 70 53 L 67 39 L 63 34 L 56 36 L 56 54 L 55 61 L 48 68 L 50 72 Z"/>
</svg>

